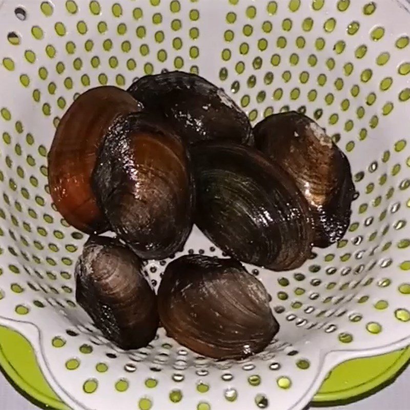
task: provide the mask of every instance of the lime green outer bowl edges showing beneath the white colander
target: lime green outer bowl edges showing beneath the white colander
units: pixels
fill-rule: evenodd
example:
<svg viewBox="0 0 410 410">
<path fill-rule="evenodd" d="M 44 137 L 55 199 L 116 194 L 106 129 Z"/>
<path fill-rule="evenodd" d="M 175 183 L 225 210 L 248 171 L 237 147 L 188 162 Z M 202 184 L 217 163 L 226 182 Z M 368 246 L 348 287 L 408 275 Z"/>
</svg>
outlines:
<svg viewBox="0 0 410 410">
<path fill-rule="evenodd" d="M 346 404 L 375 393 L 394 381 L 410 360 L 410 346 L 392 353 L 348 360 L 330 373 L 312 405 Z M 17 391 L 39 407 L 68 410 L 40 370 L 29 341 L 0 326 L 0 366 Z"/>
</svg>

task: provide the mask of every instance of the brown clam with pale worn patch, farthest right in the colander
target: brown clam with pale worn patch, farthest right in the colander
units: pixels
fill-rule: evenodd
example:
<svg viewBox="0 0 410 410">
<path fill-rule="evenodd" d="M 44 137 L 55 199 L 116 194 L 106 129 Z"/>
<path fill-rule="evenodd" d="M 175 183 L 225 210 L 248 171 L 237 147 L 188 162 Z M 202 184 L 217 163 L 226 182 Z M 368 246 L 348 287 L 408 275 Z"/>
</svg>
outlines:
<svg viewBox="0 0 410 410">
<path fill-rule="evenodd" d="M 296 182 L 308 201 L 314 244 L 325 248 L 350 224 L 355 193 L 347 157 L 325 131 L 297 112 L 271 115 L 256 125 L 255 147 Z"/>
</svg>

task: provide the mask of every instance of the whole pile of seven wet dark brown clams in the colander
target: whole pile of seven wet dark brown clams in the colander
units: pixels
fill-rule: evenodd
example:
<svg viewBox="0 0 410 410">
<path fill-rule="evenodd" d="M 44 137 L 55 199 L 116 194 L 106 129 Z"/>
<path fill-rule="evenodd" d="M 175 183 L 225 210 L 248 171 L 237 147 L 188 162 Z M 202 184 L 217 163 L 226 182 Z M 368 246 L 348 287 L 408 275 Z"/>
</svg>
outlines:
<svg viewBox="0 0 410 410">
<path fill-rule="evenodd" d="M 343 237 L 355 193 L 346 156 L 314 120 L 285 112 L 252 128 L 222 89 L 179 71 L 81 94 L 48 165 L 56 209 L 90 235 L 76 300 L 104 336 L 138 348 L 161 323 L 218 360 L 261 352 L 279 331 L 242 263 L 301 267 Z M 194 223 L 227 257 L 178 257 L 155 293 L 145 261 L 174 258 Z"/>
</svg>

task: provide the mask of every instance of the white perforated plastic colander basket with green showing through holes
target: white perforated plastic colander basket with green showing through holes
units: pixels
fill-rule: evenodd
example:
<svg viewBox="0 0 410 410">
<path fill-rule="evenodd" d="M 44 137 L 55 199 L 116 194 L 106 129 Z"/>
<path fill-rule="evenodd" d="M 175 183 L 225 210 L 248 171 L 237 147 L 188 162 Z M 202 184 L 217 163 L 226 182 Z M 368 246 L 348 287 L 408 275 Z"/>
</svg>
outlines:
<svg viewBox="0 0 410 410">
<path fill-rule="evenodd" d="M 348 358 L 410 342 L 410 4 L 405 0 L 0 1 L 0 322 L 73 408 L 302 408 Z M 249 267 L 281 324 L 257 357 L 215 362 L 163 332 L 122 352 L 75 304 L 86 238 L 61 219 L 47 150 L 76 93 L 162 69 L 201 74 L 258 121 L 299 109 L 351 161 L 343 240 L 283 274 Z M 184 252 L 219 254 L 194 230 Z M 202 250 L 202 251 L 201 251 Z M 154 284 L 167 261 L 150 262 Z"/>
</svg>

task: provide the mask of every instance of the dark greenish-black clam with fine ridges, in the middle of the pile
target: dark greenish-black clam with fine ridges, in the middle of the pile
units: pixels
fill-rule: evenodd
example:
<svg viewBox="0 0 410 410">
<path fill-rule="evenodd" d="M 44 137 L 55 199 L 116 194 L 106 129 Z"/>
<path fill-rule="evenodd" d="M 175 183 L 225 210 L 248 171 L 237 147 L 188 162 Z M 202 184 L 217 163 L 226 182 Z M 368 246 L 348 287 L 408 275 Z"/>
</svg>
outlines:
<svg viewBox="0 0 410 410">
<path fill-rule="evenodd" d="M 251 147 L 204 142 L 191 150 L 195 223 L 234 258 L 274 271 L 309 257 L 310 210 L 294 181 Z"/>
</svg>

